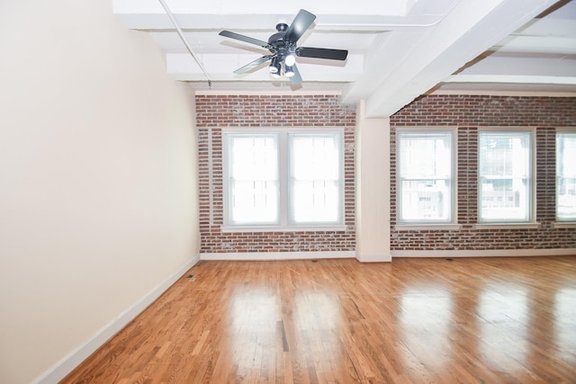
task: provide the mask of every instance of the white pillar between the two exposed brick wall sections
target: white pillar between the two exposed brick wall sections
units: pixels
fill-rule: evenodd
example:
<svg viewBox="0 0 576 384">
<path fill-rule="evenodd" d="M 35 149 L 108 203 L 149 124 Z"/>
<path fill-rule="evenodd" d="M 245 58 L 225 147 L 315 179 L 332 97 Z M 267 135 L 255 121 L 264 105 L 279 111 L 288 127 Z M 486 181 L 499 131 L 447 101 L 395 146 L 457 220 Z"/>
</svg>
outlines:
<svg viewBox="0 0 576 384">
<path fill-rule="evenodd" d="M 390 252 L 390 119 L 356 113 L 356 259 L 392 262 Z"/>
</svg>

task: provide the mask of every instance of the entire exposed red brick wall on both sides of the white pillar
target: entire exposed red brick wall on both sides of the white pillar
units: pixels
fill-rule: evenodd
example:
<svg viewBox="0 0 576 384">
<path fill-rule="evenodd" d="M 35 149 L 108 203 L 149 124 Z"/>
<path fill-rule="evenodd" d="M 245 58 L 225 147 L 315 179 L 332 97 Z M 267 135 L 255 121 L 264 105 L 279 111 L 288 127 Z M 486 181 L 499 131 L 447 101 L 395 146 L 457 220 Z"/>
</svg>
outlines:
<svg viewBox="0 0 576 384">
<path fill-rule="evenodd" d="M 202 253 L 353 251 L 356 249 L 354 129 L 356 108 L 336 95 L 198 95 Z M 460 230 L 396 230 L 396 128 L 457 128 Z M 535 229 L 475 229 L 478 129 L 536 127 Z M 222 128 L 345 127 L 346 231 L 222 233 Z M 491 250 L 576 246 L 576 229 L 554 228 L 555 129 L 576 127 L 576 98 L 425 96 L 391 117 L 391 215 L 394 250 Z M 208 140 L 211 134 L 212 184 Z M 210 210 L 210 191 L 212 208 Z"/>
</svg>

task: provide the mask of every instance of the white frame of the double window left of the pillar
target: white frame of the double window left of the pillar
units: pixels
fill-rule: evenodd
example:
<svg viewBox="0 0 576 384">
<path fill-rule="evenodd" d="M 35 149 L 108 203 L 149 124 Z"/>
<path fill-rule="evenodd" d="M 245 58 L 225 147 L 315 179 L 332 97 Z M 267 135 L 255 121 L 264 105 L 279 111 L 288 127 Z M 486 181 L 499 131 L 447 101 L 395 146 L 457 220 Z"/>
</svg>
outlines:
<svg viewBox="0 0 576 384">
<path fill-rule="evenodd" d="M 277 135 L 278 140 L 278 215 L 279 220 L 275 224 L 265 223 L 242 223 L 235 224 L 230 221 L 230 186 L 229 186 L 229 137 L 235 135 L 242 136 L 267 136 Z M 328 136 L 334 135 L 338 138 L 338 222 L 307 222 L 307 223 L 294 223 L 290 218 L 290 204 L 291 191 L 290 177 L 291 177 L 291 148 L 289 147 L 290 135 L 306 135 L 306 136 Z M 345 147 L 344 147 L 345 129 L 340 127 L 279 127 L 279 128 L 224 128 L 222 129 L 222 209 L 223 209 L 223 222 L 221 226 L 222 232 L 246 232 L 246 231 L 319 231 L 319 230 L 345 230 L 346 213 L 345 213 Z"/>
</svg>

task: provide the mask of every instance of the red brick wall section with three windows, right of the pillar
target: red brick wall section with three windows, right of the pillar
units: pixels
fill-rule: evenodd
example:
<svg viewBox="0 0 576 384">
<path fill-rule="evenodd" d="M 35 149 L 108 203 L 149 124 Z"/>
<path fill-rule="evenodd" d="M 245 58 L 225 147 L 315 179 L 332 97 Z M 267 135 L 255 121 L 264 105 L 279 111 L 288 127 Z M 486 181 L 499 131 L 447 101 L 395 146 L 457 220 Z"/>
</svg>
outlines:
<svg viewBox="0 0 576 384">
<path fill-rule="evenodd" d="M 536 127 L 536 221 L 539 228 L 475 229 L 478 220 L 478 129 Z M 396 129 L 457 127 L 457 200 L 460 230 L 397 230 Z M 391 117 L 392 252 L 499 250 L 576 246 L 575 228 L 554 228 L 555 131 L 576 127 L 576 98 L 424 96 Z"/>
</svg>

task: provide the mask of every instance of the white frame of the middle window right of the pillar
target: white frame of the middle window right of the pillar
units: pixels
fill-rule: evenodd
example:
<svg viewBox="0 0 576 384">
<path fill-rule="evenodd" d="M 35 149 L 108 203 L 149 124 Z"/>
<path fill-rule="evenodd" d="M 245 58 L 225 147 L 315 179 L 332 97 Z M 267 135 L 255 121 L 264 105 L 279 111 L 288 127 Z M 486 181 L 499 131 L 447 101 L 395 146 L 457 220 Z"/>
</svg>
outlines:
<svg viewBox="0 0 576 384">
<path fill-rule="evenodd" d="M 487 134 L 507 134 L 513 135 L 514 133 L 524 133 L 528 134 L 528 156 L 527 156 L 527 193 L 528 193 L 528 203 L 527 203 L 527 219 L 483 219 L 482 218 L 482 165 L 481 165 L 481 136 L 483 133 Z M 478 129 L 478 224 L 481 226 L 491 226 L 491 225 L 531 225 L 536 224 L 536 129 L 532 127 L 482 127 Z"/>
</svg>

